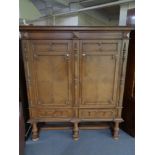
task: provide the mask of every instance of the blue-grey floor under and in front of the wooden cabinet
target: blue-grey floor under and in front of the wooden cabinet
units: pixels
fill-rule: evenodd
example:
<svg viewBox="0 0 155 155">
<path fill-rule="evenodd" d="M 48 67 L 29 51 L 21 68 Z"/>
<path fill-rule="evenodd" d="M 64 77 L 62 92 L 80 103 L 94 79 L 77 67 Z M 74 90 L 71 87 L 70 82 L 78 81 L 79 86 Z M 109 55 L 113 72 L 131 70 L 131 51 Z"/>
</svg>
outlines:
<svg viewBox="0 0 155 155">
<path fill-rule="evenodd" d="M 70 130 L 40 132 L 40 139 L 26 141 L 25 155 L 134 155 L 134 138 L 120 131 L 119 140 L 109 129 L 81 130 L 79 141 L 73 141 Z"/>
</svg>

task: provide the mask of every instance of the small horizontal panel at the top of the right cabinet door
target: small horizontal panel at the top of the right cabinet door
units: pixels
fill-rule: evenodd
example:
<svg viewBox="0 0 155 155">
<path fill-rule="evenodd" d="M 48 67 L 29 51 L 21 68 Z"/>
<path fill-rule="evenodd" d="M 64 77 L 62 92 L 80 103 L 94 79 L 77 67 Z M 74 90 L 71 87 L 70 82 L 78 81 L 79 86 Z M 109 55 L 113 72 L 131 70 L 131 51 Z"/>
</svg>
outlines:
<svg viewBox="0 0 155 155">
<path fill-rule="evenodd" d="M 116 52 L 119 49 L 118 40 L 86 40 L 82 41 L 84 52 Z"/>
</svg>

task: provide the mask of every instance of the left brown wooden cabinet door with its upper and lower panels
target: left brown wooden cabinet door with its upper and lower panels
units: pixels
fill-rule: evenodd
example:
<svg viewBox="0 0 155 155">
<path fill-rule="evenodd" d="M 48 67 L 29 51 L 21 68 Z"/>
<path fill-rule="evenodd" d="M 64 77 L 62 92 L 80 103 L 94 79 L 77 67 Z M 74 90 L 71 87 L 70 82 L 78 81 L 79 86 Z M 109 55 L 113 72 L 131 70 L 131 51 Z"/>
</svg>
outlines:
<svg viewBox="0 0 155 155">
<path fill-rule="evenodd" d="M 33 40 L 33 71 L 38 106 L 72 105 L 72 58 L 69 40 Z"/>
</svg>

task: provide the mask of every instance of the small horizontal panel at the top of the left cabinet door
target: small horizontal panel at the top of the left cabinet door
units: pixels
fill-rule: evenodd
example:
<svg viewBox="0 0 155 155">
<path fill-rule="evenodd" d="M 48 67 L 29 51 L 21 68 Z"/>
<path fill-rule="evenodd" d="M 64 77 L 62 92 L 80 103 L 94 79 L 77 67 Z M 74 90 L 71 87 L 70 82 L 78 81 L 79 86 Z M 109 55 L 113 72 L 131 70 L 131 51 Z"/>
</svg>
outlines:
<svg viewBox="0 0 155 155">
<path fill-rule="evenodd" d="M 33 40 L 35 52 L 67 52 L 70 51 L 68 40 Z"/>
</svg>

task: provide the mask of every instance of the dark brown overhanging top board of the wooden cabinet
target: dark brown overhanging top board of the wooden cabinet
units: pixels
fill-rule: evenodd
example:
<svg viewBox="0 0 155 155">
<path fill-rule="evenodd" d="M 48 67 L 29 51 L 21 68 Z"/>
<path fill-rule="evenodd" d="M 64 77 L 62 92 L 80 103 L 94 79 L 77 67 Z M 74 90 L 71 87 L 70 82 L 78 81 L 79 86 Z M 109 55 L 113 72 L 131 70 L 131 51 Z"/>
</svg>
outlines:
<svg viewBox="0 0 155 155">
<path fill-rule="evenodd" d="M 19 26 L 20 31 L 131 31 L 127 26 Z"/>
</svg>

